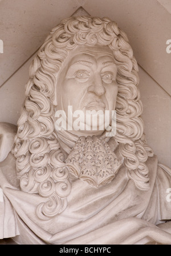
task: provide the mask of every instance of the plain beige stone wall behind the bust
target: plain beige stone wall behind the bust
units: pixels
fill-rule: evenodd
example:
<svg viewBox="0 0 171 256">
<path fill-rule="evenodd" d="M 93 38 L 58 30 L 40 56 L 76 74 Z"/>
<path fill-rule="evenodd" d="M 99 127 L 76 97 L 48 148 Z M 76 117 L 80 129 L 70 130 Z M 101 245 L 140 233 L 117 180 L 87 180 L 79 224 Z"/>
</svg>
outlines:
<svg viewBox="0 0 171 256">
<path fill-rule="evenodd" d="M 171 167 L 170 93 L 171 54 L 166 53 L 170 35 L 170 14 L 157 1 L 1 1 L 0 19 L 4 53 L 0 54 L 0 121 L 17 124 L 30 56 L 44 41 L 50 29 L 82 5 L 89 14 L 108 16 L 125 30 L 140 66 L 140 90 L 144 104 L 145 133 L 160 162 Z M 38 10 L 39 8 L 39 10 Z M 84 14 L 83 11 L 80 14 Z M 121 15 L 124 14 L 124 15 Z M 46 21 L 46 22 L 44 22 Z M 30 58 L 30 59 L 29 59 Z M 28 61 L 27 61 L 28 59 Z M 157 82 L 155 82 L 152 76 Z M 162 90 L 162 88 L 164 90 Z M 149 101 L 150 99 L 150 101 Z M 10 104 L 9 104 L 10 102 Z M 152 122 L 151 122 L 152 120 Z M 154 126 L 154 131 L 153 131 Z M 160 138 L 160 139 L 156 139 Z"/>
</svg>

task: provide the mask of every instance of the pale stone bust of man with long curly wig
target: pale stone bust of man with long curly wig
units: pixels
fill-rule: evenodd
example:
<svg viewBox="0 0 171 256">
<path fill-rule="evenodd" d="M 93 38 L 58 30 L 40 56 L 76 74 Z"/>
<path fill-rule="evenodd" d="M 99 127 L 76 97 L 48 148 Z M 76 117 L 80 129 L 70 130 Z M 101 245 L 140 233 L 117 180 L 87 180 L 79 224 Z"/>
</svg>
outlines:
<svg viewBox="0 0 171 256">
<path fill-rule="evenodd" d="M 30 66 L 18 129 L 1 123 L 1 239 L 171 244 L 171 170 L 146 142 L 137 72 L 109 18 L 71 17 L 51 30 Z M 115 112 L 115 133 L 112 115 L 91 129 L 92 115 L 85 129 L 89 111 Z"/>
</svg>

